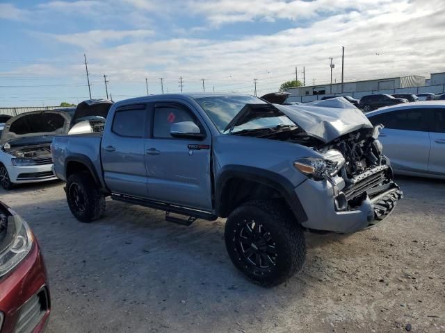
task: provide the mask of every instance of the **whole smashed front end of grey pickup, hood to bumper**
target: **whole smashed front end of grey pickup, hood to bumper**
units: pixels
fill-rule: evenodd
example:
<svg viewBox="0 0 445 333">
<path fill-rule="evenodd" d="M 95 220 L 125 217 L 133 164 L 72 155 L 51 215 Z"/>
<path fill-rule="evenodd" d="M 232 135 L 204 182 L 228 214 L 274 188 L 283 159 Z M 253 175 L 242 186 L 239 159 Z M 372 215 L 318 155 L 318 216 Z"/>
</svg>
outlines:
<svg viewBox="0 0 445 333">
<path fill-rule="evenodd" d="M 336 102 L 337 103 L 337 102 Z M 297 187 L 302 201 L 308 196 L 323 198 L 320 212 L 307 200 L 313 210 L 309 229 L 335 232 L 354 232 L 385 219 L 396 206 L 403 192 L 394 182 L 389 159 L 383 155 L 378 141 L 380 126 L 375 128 L 362 112 L 332 103 L 281 108 L 300 126 L 300 130 L 278 134 L 281 139 L 308 146 L 321 156 L 300 158 L 294 167 L 314 182 L 303 182 Z M 324 202 L 323 202 L 324 201 Z M 332 208 L 331 208 L 332 207 Z"/>
</svg>

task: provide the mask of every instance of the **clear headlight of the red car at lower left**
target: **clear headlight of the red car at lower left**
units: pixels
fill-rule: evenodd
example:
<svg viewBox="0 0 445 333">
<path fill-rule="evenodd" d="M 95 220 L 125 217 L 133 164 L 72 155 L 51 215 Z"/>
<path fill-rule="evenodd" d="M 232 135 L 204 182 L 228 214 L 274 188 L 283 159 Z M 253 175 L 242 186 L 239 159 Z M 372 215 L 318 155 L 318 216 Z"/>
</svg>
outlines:
<svg viewBox="0 0 445 333">
<path fill-rule="evenodd" d="M 18 216 L 0 216 L 6 221 L 6 230 L 0 235 L 0 278 L 9 273 L 28 255 L 33 246 L 33 234 L 23 219 Z M 3 224 L 5 221 L 3 221 Z"/>
</svg>

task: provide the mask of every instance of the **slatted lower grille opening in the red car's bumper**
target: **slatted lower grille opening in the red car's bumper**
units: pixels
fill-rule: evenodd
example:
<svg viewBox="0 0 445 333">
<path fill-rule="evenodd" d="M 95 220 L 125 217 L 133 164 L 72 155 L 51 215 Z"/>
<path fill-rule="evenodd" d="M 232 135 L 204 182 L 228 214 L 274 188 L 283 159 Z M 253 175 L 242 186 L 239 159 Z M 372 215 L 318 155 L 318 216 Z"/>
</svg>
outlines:
<svg viewBox="0 0 445 333">
<path fill-rule="evenodd" d="M 31 297 L 21 308 L 15 333 L 31 333 L 40 323 L 44 314 L 49 309 L 46 289 L 40 290 Z"/>
</svg>

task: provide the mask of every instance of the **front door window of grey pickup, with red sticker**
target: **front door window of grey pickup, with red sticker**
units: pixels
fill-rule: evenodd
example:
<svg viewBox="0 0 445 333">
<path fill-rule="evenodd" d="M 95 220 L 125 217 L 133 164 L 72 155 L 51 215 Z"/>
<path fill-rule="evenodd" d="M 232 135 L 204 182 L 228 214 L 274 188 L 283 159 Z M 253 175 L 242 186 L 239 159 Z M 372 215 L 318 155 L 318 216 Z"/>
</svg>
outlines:
<svg viewBox="0 0 445 333">
<path fill-rule="evenodd" d="M 172 123 L 193 121 L 197 123 L 191 112 L 181 107 L 160 107 L 154 109 L 153 136 L 159 138 L 172 138 L 170 128 Z"/>
</svg>

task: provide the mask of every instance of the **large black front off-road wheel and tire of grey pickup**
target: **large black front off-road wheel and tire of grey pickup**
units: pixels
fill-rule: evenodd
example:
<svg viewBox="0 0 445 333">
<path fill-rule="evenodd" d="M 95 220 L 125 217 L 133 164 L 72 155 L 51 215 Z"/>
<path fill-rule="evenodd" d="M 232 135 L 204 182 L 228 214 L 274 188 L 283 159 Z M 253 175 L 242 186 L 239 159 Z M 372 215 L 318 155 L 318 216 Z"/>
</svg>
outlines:
<svg viewBox="0 0 445 333">
<path fill-rule="evenodd" d="M 252 225 L 252 221 L 255 223 L 253 229 L 248 228 L 249 223 Z M 255 231 L 255 227 L 257 227 L 256 232 L 259 231 L 260 234 L 261 228 L 269 233 L 271 240 L 268 241 L 270 245 L 267 248 L 268 250 L 273 248 L 275 252 L 266 259 L 264 253 L 260 254 L 260 267 L 252 263 L 252 255 L 250 259 L 246 257 L 248 251 L 252 251 L 249 248 L 245 250 L 248 244 L 241 244 L 245 241 L 243 239 L 241 242 L 243 232 L 246 234 L 248 230 Z M 252 200 L 236 208 L 225 224 L 225 244 L 236 268 L 263 287 L 273 287 L 286 282 L 301 270 L 305 262 L 306 246 L 303 229 L 289 207 L 278 200 Z M 254 241 L 253 244 L 253 248 L 258 248 L 255 251 L 264 248 L 261 246 L 261 241 Z M 261 268 L 261 261 L 266 262 L 264 266 L 270 262 L 270 266 Z"/>
</svg>

